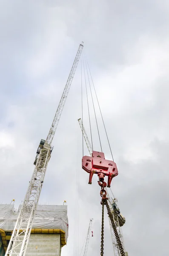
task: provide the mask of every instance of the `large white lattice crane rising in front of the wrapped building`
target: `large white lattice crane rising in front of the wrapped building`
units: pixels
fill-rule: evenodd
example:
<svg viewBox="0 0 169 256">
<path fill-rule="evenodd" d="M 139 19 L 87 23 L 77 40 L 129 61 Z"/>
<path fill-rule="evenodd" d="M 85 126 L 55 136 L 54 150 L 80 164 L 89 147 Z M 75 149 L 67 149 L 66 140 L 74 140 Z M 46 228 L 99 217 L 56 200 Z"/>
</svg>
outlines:
<svg viewBox="0 0 169 256">
<path fill-rule="evenodd" d="M 34 172 L 32 178 L 29 182 L 28 190 L 26 192 L 22 207 L 20 209 L 14 230 L 9 241 L 8 248 L 6 250 L 5 256 L 25 256 L 26 248 L 29 242 L 29 236 L 32 230 L 32 224 L 34 220 L 34 214 L 40 197 L 40 192 L 43 185 L 43 180 L 46 173 L 46 168 L 51 157 L 51 152 L 53 149 L 52 140 L 63 111 L 64 104 L 71 86 L 74 73 L 77 68 L 78 61 L 80 59 L 81 52 L 83 50 L 83 42 L 80 44 L 72 69 L 70 71 L 66 86 L 64 88 L 62 97 L 59 102 L 59 106 L 55 113 L 52 126 L 50 128 L 49 134 L 45 140 L 40 141 L 40 145 L 37 149 L 37 155 L 34 161 Z"/>
</svg>

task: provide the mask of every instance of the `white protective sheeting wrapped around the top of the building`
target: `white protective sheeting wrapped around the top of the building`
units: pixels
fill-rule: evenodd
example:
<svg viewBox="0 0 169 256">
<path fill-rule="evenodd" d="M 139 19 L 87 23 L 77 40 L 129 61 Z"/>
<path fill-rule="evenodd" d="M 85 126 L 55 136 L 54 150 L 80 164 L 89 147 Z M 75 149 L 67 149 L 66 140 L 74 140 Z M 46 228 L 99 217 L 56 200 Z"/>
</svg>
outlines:
<svg viewBox="0 0 169 256">
<path fill-rule="evenodd" d="M 17 220 L 18 211 L 14 204 L 0 204 L 0 229 L 12 231 Z M 67 205 L 38 205 L 34 217 L 32 229 L 61 229 L 68 238 Z"/>
</svg>

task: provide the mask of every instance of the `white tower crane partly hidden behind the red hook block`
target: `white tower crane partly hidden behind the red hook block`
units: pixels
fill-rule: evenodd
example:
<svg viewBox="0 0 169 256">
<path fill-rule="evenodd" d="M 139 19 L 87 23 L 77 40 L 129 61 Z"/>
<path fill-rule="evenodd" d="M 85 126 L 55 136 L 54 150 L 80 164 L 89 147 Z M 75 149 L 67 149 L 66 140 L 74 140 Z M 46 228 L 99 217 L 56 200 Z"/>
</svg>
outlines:
<svg viewBox="0 0 169 256">
<path fill-rule="evenodd" d="M 89 154 L 92 156 L 92 146 L 90 144 L 89 138 L 87 136 L 87 133 L 86 133 L 86 130 L 84 128 L 84 125 L 83 125 L 83 122 L 82 122 L 81 118 L 78 119 L 78 122 L 80 124 L 80 128 L 82 130 L 84 140 L 85 140 L 87 148 L 89 150 Z M 106 191 L 107 191 L 107 189 L 106 189 Z M 113 219 L 115 221 L 116 229 L 117 229 L 120 241 L 121 241 L 121 243 L 123 245 L 123 249 L 125 251 L 124 239 L 123 239 L 123 233 L 122 233 L 121 226 L 123 226 L 123 224 L 126 222 L 126 220 L 120 214 L 120 210 L 117 207 L 117 198 L 115 198 L 114 200 L 111 199 L 109 197 L 108 191 L 107 191 L 107 197 L 108 197 L 108 201 L 109 201 L 109 207 L 111 209 L 111 212 L 112 212 L 112 215 L 113 215 Z M 110 224 L 110 231 L 111 231 L 111 236 L 112 236 L 112 244 L 113 244 L 114 256 L 121 256 L 120 250 L 119 250 L 119 247 L 118 247 L 118 244 L 117 244 L 117 241 L 116 241 L 115 233 L 113 231 L 113 227 L 112 227 L 112 224 L 111 224 L 111 221 L 110 221 L 110 218 L 109 218 L 109 224 Z M 128 256 L 127 252 L 125 252 L 125 256 Z"/>
</svg>

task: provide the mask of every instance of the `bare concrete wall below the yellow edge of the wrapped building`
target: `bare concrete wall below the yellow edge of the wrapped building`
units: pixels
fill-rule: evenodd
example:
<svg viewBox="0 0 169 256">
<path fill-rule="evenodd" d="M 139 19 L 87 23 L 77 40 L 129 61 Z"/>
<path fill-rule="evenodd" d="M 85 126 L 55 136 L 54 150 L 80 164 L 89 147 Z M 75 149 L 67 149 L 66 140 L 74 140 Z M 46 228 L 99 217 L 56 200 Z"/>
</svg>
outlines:
<svg viewBox="0 0 169 256">
<path fill-rule="evenodd" d="M 31 234 L 26 256 L 60 256 L 60 234 Z"/>
</svg>

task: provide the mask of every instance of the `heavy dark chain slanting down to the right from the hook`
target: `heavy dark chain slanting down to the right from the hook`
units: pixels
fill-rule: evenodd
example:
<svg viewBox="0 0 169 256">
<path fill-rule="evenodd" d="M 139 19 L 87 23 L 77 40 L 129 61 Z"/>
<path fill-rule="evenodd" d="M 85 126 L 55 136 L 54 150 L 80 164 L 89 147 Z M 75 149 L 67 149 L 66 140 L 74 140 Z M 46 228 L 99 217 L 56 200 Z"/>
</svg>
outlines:
<svg viewBox="0 0 169 256">
<path fill-rule="evenodd" d="M 109 204 L 107 202 L 107 199 L 103 198 L 102 201 L 104 202 L 104 204 L 106 204 L 107 212 L 108 212 L 109 218 L 110 218 L 111 223 L 112 223 L 112 227 L 113 227 L 113 230 L 114 230 L 114 233 L 115 233 L 116 241 L 117 241 L 117 244 L 118 244 L 121 256 L 125 256 L 125 253 L 124 253 L 124 250 L 123 250 L 123 246 L 122 246 L 122 243 L 120 241 L 119 235 L 117 233 L 117 229 L 116 229 L 116 226 L 115 226 L 115 221 L 113 219 L 113 215 L 112 215 L 112 212 L 111 212 L 111 210 L 109 208 Z M 104 206 L 104 204 L 103 204 L 103 206 Z"/>
</svg>

